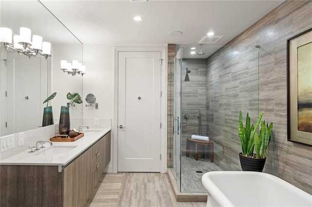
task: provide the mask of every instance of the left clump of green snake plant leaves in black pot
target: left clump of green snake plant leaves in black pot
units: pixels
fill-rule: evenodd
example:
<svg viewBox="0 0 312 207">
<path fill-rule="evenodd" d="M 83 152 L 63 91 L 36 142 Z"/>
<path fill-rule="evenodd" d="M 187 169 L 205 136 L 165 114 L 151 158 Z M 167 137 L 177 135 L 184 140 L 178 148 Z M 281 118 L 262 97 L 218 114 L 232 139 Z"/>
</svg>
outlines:
<svg viewBox="0 0 312 207">
<path fill-rule="evenodd" d="M 255 126 L 254 124 L 251 125 L 250 117 L 249 117 L 249 114 L 247 113 L 246 124 L 244 126 L 242 112 L 239 111 L 238 135 L 239 135 L 241 146 L 242 146 L 242 154 L 245 156 L 252 156 L 254 154 L 254 145 L 255 145 L 254 136 L 256 135 L 256 137 L 257 136 L 259 137 L 259 135 L 256 134 L 256 130 L 260 124 L 263 113 L 264 113 L 263 111 L 260 113 L 258 121 L 256 122 Z M 256 139 L 258 141 L 258 138 Z M 257 146 L 258 146 L 258 143 L 257 143 Z"/>
</svg>

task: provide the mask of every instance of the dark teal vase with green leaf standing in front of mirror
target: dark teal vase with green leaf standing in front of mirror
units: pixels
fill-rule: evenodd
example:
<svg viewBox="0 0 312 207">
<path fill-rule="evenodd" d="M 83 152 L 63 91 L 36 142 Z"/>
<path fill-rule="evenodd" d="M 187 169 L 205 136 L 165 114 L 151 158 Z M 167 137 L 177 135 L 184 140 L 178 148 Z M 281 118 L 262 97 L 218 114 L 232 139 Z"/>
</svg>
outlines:
<svg viewBox="0 0 312 207">
<path fill-rule="evenodd" d="M 70 116 L 69 116 L 69 106 L 73 104 L 73 102 L 77 104 L 81 104 L 81 96 L 74 92 L 68 92 L 66 98 L 70 100 L 66 106 L 61 106 L 60 108 L 60 116 L 59 116 L 59 134 L 60 135 L 68 135 L 70 131 Z"/>
</svg>

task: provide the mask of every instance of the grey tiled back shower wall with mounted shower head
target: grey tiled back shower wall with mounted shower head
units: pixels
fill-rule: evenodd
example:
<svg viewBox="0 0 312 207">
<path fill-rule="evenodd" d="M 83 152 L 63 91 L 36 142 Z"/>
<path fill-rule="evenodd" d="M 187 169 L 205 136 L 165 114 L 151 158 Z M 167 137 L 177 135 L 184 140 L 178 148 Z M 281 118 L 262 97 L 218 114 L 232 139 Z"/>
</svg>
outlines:
<svg viewBox="0 0 312 207">
<path fill-rule="evenodd" d="M 188 73 L 189 81 L 185 81 L 186 68 L 191 70 Z M 198 109 L 201 110 L 201 125 L 204 136 L 206 131 L 206 83 L 207 83 L 207 63 L 206 59 L 183 59 L 182 60 L 182 155 L 185 155 L 186 140 L 192 135 L 199 135 L 198 132 Z M 187 114 L 189 119 L 184 119 Z M 194 146 L 191 144 L 190 149 Z"/>
</svg>

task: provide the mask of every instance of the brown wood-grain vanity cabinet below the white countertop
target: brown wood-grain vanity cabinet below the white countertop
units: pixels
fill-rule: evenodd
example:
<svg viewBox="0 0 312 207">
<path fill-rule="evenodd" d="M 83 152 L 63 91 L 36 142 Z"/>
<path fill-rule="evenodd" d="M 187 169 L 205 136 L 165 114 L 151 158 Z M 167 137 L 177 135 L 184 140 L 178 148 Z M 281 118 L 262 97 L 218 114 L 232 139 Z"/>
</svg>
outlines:
<svg viewBox="0 0 312 207">
<path fill-rule="evenodd" d="M 0 165 L 0 207 L 83 207 L 110 161 L 111 133 L 58 166 Z"/>
</svg>

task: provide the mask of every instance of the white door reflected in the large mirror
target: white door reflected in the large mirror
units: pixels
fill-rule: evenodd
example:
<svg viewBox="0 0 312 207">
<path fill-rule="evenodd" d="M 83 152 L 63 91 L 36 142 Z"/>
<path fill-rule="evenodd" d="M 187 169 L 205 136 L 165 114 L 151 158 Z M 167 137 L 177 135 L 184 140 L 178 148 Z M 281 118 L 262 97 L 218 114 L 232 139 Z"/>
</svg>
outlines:
<svg viewBox="0 0 312 207">
<path fill-rule="evenodd" d="M 47 97 L 48 62 L 30 60 L 7 52 L 7 133 L 27 131 L 42 125 L 43 101 Z M 25 121 L 27 120 L 27 121 Z"/>
</svg>

